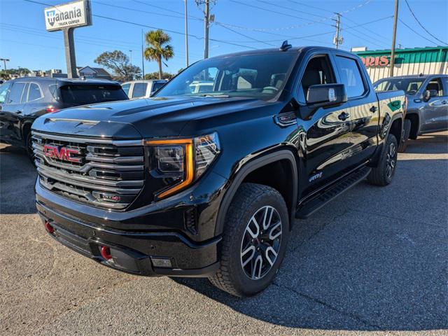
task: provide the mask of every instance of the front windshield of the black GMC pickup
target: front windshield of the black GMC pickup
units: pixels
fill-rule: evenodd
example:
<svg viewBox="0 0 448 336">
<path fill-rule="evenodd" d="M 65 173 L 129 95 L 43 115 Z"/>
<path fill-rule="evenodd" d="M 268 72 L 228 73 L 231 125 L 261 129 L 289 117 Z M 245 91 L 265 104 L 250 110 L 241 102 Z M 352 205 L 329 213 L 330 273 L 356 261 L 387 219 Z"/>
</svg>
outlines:
<svg viewBox="0 0 448 336">
<path fill-rule="evenodd" d="M 297 52 L 271 52 L 205 59 L 188 67 L 155 95 L 269 100 L 283 89 L 297 55 Z"/>
</svg>

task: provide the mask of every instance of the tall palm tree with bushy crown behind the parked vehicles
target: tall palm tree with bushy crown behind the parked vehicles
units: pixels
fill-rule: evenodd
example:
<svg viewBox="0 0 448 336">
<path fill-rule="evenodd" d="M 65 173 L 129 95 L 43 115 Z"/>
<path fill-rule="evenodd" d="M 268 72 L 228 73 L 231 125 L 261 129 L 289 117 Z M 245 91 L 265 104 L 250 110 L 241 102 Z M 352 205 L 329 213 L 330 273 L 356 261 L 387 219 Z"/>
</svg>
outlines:
<svg viewBox="0 0 448 336">
<path fill-rule="evenodd" d="M 168 60 L 174 56 L 172 45 L 167 44 L 171 41 L 162 29 L 151 30 L 145 34 L 145 41 L 148 48 L 145 49 L 145 58 L 148 61 L 156 61 L 159 64 L 159 79 L 162 79 L 162 58 Z"/>
</svg>

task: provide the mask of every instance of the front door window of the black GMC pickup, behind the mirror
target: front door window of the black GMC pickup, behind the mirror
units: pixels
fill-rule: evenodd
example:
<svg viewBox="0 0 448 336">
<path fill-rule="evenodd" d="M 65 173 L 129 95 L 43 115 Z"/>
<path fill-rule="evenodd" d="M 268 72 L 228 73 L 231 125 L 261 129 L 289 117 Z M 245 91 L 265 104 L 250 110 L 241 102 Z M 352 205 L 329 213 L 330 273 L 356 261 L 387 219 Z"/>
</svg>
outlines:
<svg viewBox="0 0 448 336">
<path fill-rule="evenodd" d="M 335 83 L 335 75 L 331 69 L 327 56 L 318 56 L 310 59 L 302 77 L 302 90 L 307 97 L 311 85 Z"/>
</svg>

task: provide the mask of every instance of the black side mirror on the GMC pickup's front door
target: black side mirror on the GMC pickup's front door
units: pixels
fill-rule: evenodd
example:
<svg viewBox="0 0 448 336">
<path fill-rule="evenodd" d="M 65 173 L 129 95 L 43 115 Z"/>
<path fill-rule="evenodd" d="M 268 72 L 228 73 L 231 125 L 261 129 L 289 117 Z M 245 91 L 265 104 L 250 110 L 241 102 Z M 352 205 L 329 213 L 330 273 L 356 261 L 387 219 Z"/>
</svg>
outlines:
<svg viewBox="0 0 448 336">
<path fill-rule="evenodd" d="M 307 105 L 314 107 L 337 106 L 346 101 L 344 84 L 311 85 L 307 92 Z"/>
</svg>

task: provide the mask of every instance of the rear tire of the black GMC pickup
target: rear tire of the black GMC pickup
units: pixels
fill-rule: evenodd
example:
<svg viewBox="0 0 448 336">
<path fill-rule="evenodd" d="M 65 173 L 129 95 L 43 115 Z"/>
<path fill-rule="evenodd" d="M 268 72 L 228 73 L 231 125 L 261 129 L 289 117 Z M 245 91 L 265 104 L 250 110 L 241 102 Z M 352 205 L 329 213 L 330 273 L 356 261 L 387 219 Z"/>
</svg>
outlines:
<svg viewBox="0 0 448 336">
<path fill-rule="evenodd" d="M 393 153 L 391 153 L 391 146 L 394 148 Z M 374 186 L 387 186 L 392 182 L 393 175 L 395 174 L 395 167 L 397 165 L 397 147 L 397 139 L 395 139 L 395 136 L 393 136 L 393 134 L 388 134 L 378 165 L 377 167 L 374 167 L 369 176 L 367 176 L 367 181 L 369 181 L 370 184 Z M 390 167 L 391 160 L 393 160 L 393 167 L 391 174 L 388 174 L 388 166 Z"/>
</svg>

